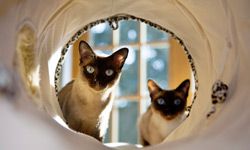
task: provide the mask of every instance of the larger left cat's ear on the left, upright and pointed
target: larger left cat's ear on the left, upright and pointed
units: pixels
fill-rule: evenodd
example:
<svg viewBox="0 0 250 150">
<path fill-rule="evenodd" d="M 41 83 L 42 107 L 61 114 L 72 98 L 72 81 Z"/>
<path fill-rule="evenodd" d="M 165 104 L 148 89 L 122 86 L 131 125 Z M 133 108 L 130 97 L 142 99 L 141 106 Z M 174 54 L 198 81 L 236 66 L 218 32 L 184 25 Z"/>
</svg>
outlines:
<svg viewBox="0 0 250 150">
<path fill-rule="evenodd" d="M 80 41 L 79 43 L 79 55 L 80 55 L 80 65 L 84 62 L 88 62 L 95 57 L 95 53 L 89 44 L 85 41 Z"/>
</svg>

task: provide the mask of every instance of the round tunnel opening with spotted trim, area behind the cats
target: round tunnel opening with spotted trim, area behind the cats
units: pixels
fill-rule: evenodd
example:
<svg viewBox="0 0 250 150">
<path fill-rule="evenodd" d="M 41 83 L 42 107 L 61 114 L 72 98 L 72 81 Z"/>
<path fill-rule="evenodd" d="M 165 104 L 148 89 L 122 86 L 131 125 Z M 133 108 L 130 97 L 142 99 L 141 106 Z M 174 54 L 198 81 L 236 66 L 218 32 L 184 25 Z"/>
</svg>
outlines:
<svg viewBox="0 0 250 150">
<path fill-rule="evenodd" d="M 56 53 L 57 58 L 60 55 L 55 73 L 56 92 L 71 80 L 79 78 L 81 41 L 86 41 L 98 56 L 109 56 L 123 47 L 129 49 L 115 88 L 104 143 L 141 144 L 138 119 L 151 104 L 148 79 L 154 80 L 165 90 L 173 90 L 189 79 L 191 84 L 185 105 L 188 117 L 196 97 L 198 79 L 189 51 L 173 32 L 130 15 L 112 16 L 84 26 L 62 48 L 61 54 L 60 50 Z"/>
</svg>

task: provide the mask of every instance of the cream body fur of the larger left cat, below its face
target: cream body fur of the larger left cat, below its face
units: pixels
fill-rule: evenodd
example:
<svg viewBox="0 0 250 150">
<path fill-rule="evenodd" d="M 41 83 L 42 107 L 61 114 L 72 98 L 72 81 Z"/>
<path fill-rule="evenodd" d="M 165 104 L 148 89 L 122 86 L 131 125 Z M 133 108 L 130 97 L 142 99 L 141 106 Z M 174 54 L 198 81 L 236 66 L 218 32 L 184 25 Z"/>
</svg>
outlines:
<svg viewBox="0 0 250 150">
<path fill-rule="evenodd" d="M 92 89 L 81 75 L 66 85 L 59 92 L 58 99 L 69 127 L 97 139 L 103 137 L 108 128 L 113 91 L 118 80 L 112 87 L 101 91 Z"/>
</svg>

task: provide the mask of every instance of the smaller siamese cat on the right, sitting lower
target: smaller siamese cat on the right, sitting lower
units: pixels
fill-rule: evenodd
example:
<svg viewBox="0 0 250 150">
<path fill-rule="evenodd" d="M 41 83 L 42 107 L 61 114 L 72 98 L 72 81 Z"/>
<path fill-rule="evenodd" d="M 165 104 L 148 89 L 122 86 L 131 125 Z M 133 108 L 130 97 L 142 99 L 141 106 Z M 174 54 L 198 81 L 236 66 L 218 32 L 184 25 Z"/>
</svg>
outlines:
<svg viewBox="0 0 250 150">
<path fill-rule="evenodd" d="M 151 104 L 139 119 L 140 142 L 143 146 L 161 143 L 185 119 L 190 81 L 174 90 L 164 90 L 148 80 Z"/>
</svg>

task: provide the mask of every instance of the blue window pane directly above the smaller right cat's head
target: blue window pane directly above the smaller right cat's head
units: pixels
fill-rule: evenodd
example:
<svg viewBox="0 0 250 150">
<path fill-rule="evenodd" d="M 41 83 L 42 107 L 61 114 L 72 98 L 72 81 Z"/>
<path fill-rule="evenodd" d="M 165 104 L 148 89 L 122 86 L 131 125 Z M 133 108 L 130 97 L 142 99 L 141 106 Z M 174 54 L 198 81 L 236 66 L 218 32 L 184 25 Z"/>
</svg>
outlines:
<svg viewBox="0 0 250 150">
<path fill-rule="evenodd" d="M 145 56 L 144 56 L 145 55 Z M 167 87 L 168 49 L 167 47 L 145 47 L 143 58 L 146 59 L 147 78 L 153 79 L 162 88 Z M 146 88 L 146 87 L 145 87 Z"/>
</svg>

